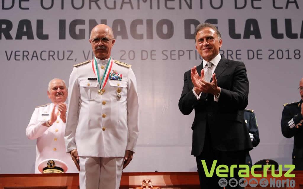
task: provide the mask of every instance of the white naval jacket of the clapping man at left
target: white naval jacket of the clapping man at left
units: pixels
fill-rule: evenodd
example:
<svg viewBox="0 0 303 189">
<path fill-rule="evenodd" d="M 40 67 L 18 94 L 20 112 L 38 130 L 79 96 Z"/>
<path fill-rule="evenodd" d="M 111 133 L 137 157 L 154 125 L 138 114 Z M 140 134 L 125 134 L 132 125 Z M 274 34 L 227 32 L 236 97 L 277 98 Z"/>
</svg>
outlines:
<svg viewBox="0 0 303 189">
<path fill-rule="evenodd" d="M 41 161 L 49 158 L 59 159 L 67 164 L 67 173 L 78 173 L 77 167 L 72 161 L 71 155 L 65 151 L 64 131 L 65 123 L 57 117 L 57 121 L 52 126 L 42 125 L 51 118 L 54 104 L 46 104 L 35 108 L 32 118 L 26 128 L 26 136 L 37 139 L 35 173 L 40 173 L 38 165 Z"/>
</svg>

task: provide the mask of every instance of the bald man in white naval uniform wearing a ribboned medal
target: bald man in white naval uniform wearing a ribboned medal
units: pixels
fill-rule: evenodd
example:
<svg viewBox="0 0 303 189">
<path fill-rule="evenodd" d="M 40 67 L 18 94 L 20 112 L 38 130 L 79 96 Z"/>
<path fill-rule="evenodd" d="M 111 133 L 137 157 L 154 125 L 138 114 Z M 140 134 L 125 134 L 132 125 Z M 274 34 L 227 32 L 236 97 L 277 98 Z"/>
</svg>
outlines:
<svg viewBox="0 0 303 189">
<path fill-rule="evenodd" d="M 69 78 L 66 152 L 80 170 L 80 189 L 118 189 L 138 138 L 138 93 L 131 65 L 113 60 L 113 32 L 95 26 L 95 57 L 76 64 Z"/>
</svg>

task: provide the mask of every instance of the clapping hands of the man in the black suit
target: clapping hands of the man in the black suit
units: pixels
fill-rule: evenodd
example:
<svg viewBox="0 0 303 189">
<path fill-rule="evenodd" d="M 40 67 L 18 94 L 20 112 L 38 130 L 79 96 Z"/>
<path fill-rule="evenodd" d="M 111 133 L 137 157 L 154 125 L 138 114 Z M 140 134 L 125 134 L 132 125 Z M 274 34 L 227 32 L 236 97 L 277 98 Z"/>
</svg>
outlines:
<svg viewBox="0 0 303 189">
<path fill-rule="evenodd" d="M 199 76 L 197 67 L 193 67 L 191 68 L 191 81 L 195 86 L 194 90 L 197 95 L 199 95 L 200 92 L 211 93 L 213 95 L 217 95 L 220 92 L 215 73 L 212 75 L 212 81 L 210 83 L 204 80 L 204 69 L 201 70 L 201 76 Z"/>
</svg>

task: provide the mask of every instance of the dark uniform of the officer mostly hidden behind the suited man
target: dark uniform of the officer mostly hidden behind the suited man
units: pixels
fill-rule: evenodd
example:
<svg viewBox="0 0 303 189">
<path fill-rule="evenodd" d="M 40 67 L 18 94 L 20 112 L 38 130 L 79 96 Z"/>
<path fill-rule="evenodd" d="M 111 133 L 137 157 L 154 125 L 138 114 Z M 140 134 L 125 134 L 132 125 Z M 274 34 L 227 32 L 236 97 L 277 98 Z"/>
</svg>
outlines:
<svg viewBox="0 0 303 189">
<path fill-rule="evenodd" d="M 260 142 L 260 137 L 259 137 L 258 124 L 257 124 L 257 119 L 255 116 L 254 110 L 245 109 L 244 110 L 244 119 L 245 119 L 245 123 L 246 123 L 247 129 L 248 129 L 248 132 L 253 134 L 253 136 L 254 136 L 252 145 L 253 145 L 253 147 L 256 147 Z M 248 165 L 251 168 L 252 162 L 251 162 L 251 157 L 249 155 L 249 152 L 246 153 L 245 163 L 246 163 L 246 165 Z"/>
</svg>

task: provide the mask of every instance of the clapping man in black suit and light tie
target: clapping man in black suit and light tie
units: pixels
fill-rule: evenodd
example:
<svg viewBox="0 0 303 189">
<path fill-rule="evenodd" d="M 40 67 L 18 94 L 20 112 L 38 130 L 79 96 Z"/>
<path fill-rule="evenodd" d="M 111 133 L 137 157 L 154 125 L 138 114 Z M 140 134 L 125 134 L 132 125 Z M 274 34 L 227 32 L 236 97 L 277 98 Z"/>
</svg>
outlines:
<svg viewBox="0 0 303 189">
<path fill-rule="evenodd" d="M 218 160 L 216 166 L 229 168 L 245 164 L 245 154 L 252 149 L 243 117 L 248 104 L 248 78 L 243 62 L 219 54 L 222 39 L 214 25 L 199 24 L 195 44 L 203 61 L 185 72 L 179 109 L 184 115 L 195 109 L 191 155 L 196 157 L 201 188 L 221 188 L 216 171 L 207 178 L 201 160 L 205 160 L 208 171 L 214 160 Z M 239 180 L 237 168 L 234 178 Z"/>
</svg>

